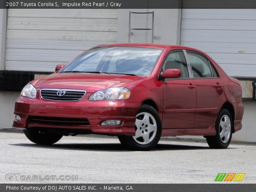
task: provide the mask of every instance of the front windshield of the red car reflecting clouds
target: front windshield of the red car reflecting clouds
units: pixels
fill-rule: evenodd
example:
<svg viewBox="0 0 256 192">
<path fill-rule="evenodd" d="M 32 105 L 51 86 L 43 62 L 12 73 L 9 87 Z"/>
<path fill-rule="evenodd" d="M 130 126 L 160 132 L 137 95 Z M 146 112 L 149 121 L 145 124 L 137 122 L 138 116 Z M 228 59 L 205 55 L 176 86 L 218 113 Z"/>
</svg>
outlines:
<svg viewBox="0 0 256 192">
<path fill-rule="evenodd" d="M 160 49 L 141 47 L 95 48 L 76 58 L 60 72 L 148 76 L 161 53 Z"/>
</svg>

